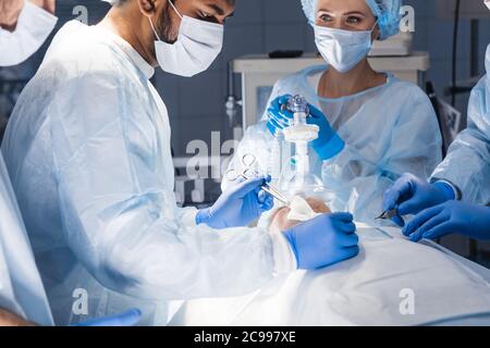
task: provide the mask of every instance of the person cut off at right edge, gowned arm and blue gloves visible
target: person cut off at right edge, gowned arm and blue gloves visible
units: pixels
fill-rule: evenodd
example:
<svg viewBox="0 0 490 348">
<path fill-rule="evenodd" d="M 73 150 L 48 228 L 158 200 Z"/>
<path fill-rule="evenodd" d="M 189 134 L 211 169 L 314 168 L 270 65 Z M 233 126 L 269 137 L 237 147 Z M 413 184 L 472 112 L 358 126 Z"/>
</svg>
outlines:
<svg viewBox="0 0 490 348">
<path fill-rule="evenodd" d="M 490 10 L 490 2 L 483 1 Z M 384 208 L 396 209 L 393 221 L 413 241 L 449 234 L 490 239 L 490 46 L 487 74 L 468 102 L 468 127 L 448 151 L 429 181 L 406 173 L 384 195 Z M 400 215 L 416 214 L 407 225 Z"/>
</svg>

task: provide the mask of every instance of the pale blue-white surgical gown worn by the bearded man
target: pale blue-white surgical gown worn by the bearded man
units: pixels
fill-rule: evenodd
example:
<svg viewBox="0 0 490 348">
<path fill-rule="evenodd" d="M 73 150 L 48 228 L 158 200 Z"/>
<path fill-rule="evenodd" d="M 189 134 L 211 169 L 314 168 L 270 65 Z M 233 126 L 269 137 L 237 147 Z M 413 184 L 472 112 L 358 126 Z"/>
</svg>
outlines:
<svg viewBox="0 0 490 348">
<path fill-rule="evenodd" d="M 244 294 L 272 277 L 261 228 L 213 231 L 179 209 L 154 69 L 123 39 L 69 22 L 9 122 L 2 152 L 57 324 L 168 300 Z"/>
</svg>

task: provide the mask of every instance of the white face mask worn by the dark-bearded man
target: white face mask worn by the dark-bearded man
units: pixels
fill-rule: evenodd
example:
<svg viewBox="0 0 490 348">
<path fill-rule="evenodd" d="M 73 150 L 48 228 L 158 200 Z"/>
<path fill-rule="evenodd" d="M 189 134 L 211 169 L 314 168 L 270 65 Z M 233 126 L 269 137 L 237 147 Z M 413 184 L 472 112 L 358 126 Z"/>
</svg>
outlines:
<svg viewBox="0 0 490 348">
<path fill-rule="evenodd" d="M 160 67 L 171 74 L 191 77 L 206 71 L 223 47 L 224 28 L 221 24 L 199 21 L 182 16 L 179 37 L 175 44 L 170 45 L 160 39 L 150 18 L 151 28 L 158 41 L 155 41 L 155 51 Z"/>
</svg>

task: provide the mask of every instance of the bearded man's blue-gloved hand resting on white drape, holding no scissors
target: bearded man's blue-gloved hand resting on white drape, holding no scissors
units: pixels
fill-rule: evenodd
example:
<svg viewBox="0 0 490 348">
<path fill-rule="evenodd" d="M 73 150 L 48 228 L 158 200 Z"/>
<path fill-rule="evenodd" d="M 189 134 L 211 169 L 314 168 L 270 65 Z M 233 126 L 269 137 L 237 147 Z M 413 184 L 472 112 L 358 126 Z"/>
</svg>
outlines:
<svg viewBox="0 0 490 348">
<path fill-rule="evenodd" d="M 317 270 L 355 257 L 359 238 L 350 213 L 322 214 L 284 232 L 299 270 Z"/>
</svg>

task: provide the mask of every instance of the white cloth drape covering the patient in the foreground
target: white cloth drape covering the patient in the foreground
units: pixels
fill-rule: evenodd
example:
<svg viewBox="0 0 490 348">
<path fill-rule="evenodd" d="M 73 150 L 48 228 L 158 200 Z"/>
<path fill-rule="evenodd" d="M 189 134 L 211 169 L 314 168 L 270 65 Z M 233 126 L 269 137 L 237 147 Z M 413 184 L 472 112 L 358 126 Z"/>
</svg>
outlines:
<svg viewBox="0 0 490 348">
<path fill-rule="evenodd" d="M 302 207 L 299 214 L 278 209 L 271 229 L 316 214 L 304 202 L 292 199 L 291 210 Z M 245 297 L 191 301 L 171 324 L 422 325 L 490 313 L 490 271 L 475 272 L 433 244 L 405 240 L 396 228 L 358 225 L 358 234 L 362 248 L 352 260 L 297 271 Z"/>
</svg>

